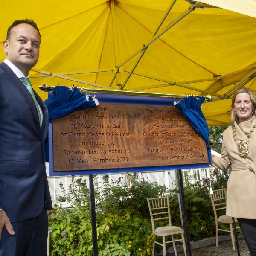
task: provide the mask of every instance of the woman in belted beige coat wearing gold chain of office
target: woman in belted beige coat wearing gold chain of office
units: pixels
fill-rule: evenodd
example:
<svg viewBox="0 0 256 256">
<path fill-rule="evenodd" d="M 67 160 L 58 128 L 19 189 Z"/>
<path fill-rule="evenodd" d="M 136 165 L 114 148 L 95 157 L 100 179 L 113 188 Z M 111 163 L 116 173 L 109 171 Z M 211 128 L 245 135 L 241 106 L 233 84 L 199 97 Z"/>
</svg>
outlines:
<svg viewBox="0 0 256 256">
<path fill-rule="evenodd" d="M 227 182 L 227 215 L 238 219 L 251 256 L 256 256 L 256 97 L 237 90 L 232 99 L 231 127 L 223 133 L 221 157 L 212 166 L 232 168 Z"/>
</svg>

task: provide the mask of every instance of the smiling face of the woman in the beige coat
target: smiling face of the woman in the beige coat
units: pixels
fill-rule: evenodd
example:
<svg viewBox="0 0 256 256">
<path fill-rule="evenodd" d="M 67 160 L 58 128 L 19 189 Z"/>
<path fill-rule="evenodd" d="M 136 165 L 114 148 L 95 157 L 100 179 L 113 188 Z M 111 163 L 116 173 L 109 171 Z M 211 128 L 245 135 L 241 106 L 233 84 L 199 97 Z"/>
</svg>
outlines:
<svg viewBox="0 0 256 256">
<path fill-rule="evenodd" d="M 239 93 L 236 95 L 234 108 L 239 122 L 248 121 L 253 117 L 255 106 L 250 98 L 249 93 Z"/>
</svg>

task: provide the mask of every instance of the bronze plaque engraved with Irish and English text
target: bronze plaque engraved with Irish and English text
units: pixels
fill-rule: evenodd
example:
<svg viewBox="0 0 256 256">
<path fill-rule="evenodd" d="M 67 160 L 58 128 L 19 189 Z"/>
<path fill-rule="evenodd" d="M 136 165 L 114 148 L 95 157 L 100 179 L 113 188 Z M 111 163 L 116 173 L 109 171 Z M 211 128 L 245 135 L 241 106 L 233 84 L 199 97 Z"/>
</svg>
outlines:
<svg viewBox="0 0 256 256">
<path fill-rule="evenodd" d="M 54 171 L 208 163 L 176 107 L 101 103 L 53 121 Z"/>
</svg>

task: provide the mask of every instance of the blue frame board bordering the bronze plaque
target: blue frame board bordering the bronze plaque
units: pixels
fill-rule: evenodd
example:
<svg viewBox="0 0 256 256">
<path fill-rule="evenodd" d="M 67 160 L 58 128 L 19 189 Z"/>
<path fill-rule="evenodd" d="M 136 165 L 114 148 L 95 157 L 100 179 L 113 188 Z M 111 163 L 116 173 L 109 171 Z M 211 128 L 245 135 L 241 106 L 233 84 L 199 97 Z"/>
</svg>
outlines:
<svg viewBox="0 0 256 256">
<path fill-rule="evenodd" d="M 52 96 L 52 91 L 48 92 L 48 97 Z M 97 99 L 100 103 L 113 104 L 137 104 L 137 105 L 156 105 L 156 106 L 174 106 L 177 98 L 151 97 L 151 96 L 131 96 L 125 94 L 97 93 Z M 209 163 L 185 164 L 185 165 L 166 165 L 166 166 L 146 166 L 146 167 L 128 167 L 114 169 L 95 169 L 95 170 L 76 170 L 76 171 L 54 171 L 53 164 L 53 129 L 52 121 L 49 122 L 49 176 L 67 176 L 67 175 L 89 175 L 105 173 L 124 173 L 124 172 L 150 172 L 175 169 L 206 168 Z"/>
</svg>

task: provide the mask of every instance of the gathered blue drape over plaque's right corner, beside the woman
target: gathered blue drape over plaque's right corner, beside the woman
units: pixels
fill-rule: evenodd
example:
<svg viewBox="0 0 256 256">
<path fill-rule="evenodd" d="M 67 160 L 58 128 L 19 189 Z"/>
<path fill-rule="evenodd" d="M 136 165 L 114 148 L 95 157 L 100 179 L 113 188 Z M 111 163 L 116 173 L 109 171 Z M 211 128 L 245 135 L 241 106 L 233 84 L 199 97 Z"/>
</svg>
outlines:
<svg viewBox="0 0 256 256">
<path fill-rule="evenodd" d="M 200 96 L 188 96 L 177 102 L 175 107 L 177 107 L 182 113 L 183 116 L 189 121 L 193 126 L 195 131 L 203 137 L 206 141 L 207 153 L 209 158 L 209 163 L 211 163 L 211 149 L 209 147 L 209 129 L 206 123 L 206 119 L 201 110 L 201 104 L 204 102 L 205 98 Z"/>
</svg>

